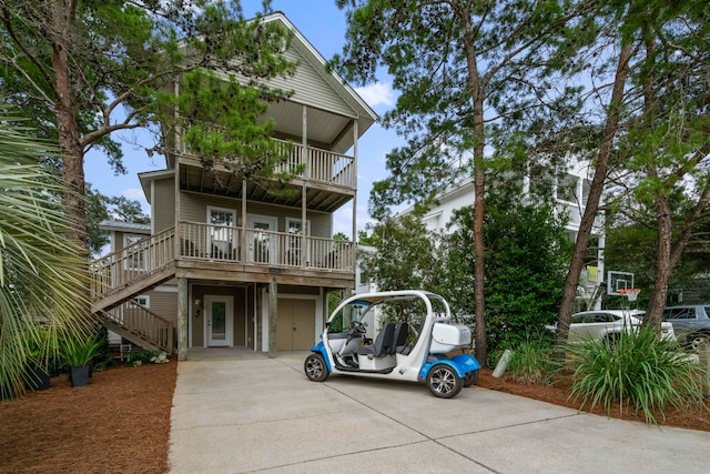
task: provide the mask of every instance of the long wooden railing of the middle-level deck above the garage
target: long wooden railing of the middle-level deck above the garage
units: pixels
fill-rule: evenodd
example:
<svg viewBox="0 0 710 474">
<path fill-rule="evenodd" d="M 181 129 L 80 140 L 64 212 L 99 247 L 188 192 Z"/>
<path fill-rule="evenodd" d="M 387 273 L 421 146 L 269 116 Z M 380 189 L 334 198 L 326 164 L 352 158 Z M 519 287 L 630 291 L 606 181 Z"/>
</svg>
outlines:
<svg viewBox="0 0 710 474">
<path fill-rule="evenodd" d="M 181 222 L 180 232 L 186 259 L 346 272 L 355 268 L 352 242 L 199 222 Z"/>
</svg>

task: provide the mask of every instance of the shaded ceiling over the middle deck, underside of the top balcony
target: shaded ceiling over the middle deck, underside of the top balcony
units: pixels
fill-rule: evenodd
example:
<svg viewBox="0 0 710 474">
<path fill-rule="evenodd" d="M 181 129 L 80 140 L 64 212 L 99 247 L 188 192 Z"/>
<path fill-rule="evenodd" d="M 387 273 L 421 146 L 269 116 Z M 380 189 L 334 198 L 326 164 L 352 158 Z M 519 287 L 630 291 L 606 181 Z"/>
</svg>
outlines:
<svg viewBox="0 0 710 474">
<path fill-rule="evenodd" d="M 180 165 L 180 189 L 202 194 L 242 199 L 242 180 L 233 174 L 199 167 Z M 308 183 L 306 186 L 306 209 L 322 212 L 334 212 L 353 199 L 354 190 L 347 191 L 335 186 Z M 264 183 L 250 182 L 246 185 L 248 201 L 267 204 L 301 208 L 303 200 L 303 181 L 292 183 L 272 181 Z"/>
</svg>

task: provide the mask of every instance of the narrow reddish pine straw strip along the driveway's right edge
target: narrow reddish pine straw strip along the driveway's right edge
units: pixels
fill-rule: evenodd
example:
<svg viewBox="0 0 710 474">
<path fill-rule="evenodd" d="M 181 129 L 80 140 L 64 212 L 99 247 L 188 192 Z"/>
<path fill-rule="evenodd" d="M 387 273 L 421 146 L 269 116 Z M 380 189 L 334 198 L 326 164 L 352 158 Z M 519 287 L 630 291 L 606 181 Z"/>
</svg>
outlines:
<svg viewBox="0 0 710 474">
<path fill-rule="evenodd" d="M 485 389 L 521 395 L 528 399 L 552 403 L 555 405 L 568 406 L 575 410 L 579 410 L 581 405 L 581 400 L 574 400 L 569 397 L 568 381 L 557 381 L 557 383 L 555 383 L 554 385 L 530 385 L 513 382 L 507 374 L 504 374 L 504 376 L 500 379 L 496 379 L 491 374 L 491 370 L 481 369 L 480 376 L 478 377 L 478 382 L 476 384 Z M 601 416 L 607 416 L 607 413 L 601 406 L 595 406 L 594 409 L 591 409 L 590 403 L 587 403 L 584 411 Z M 619 420 L 630 420 L 645 423 L 645 416 L 642 412 L 633 414 L 632 411 L 626 410 L 620 413 L 619 404 L 612 406 L 609 416 Z M 659 411 L 655 412 L 653 416 L 658 421 L 658 424 L 663 426 L 678 426 L 690 430 L 710 431 L 710 404 L 706 404 L 704 409 L 687 407 L 679 410 L 669 407 L 665 410 L 665 413 L 661 413 Z"/>
</svg>

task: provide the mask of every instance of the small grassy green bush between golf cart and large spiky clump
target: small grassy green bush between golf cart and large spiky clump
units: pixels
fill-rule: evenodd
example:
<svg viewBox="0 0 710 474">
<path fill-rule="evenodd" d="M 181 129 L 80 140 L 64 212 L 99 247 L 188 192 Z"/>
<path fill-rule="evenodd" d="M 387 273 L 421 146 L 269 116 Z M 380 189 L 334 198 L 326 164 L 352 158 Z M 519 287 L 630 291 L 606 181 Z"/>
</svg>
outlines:
<svg viewBox="0 0 710 474">
<path fill-rule="evenodd" d="M 555 373 L 552 351 L 547 341 L 527 341 L 513 351 L 508 373 L 517 383 L 549 385 Z"/>
</svg>

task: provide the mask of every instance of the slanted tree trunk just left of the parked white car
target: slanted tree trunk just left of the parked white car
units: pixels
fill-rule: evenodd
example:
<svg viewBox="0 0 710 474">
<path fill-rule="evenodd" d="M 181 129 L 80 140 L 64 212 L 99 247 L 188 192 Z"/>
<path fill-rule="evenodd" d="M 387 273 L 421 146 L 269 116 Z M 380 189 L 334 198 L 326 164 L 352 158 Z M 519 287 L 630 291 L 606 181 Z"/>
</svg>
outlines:
<svg viewBox="0 0 710 474">
<path fill-rule="evenodd" d="M 599 153 L 597 157 L 597 163 L 595 165 L 595 177 L 591 181 L 589 189 L 589 198 L 587 205 L 585 206 L 585 213 L 579 223 L 579 232 L 577 233 L 577 241 L 575 242 L 575 251 L 572 253 L 572 260 L 569 264 L 569 271 L 567 272 L 567 279 L 565 280 L 565 290 L 562 292 L 562 301 L 559 306 L 559 313 L 557 316 L 557 342 L 564 344 L 567 341 L 569 333 L 569 322 L 571 320 L 572 311 L 575 309 L 575 299 L 577 296 L 577 286 L 579 284 L 579 274 L 581 273 L 585 262 L 585 254 L 587 253 L 587 244 L 589 243 L 589 235 L 594 226 L 597 212 L 599 210 L 599 202 L 601 200 L 601 193 L 609 171 L 609 158 L 611 155 L 611 147 L 619 128 L 619 120 L 621 118 L 621 104 L 623 102 L 623 89 L 626 79 L 629 74 L 629 59 L 631 57 L 631 43 L 625 44 L 619 53 L 619 61 L 617 63 L 616 77 L 613 80 L 613 89 L 611 91 L 611 101 L 609 103 L 609 112 L 607 115 L 607 123 L 604 128 L 604 135 L 601 144 L 599 145 Z"/>
</svg>

